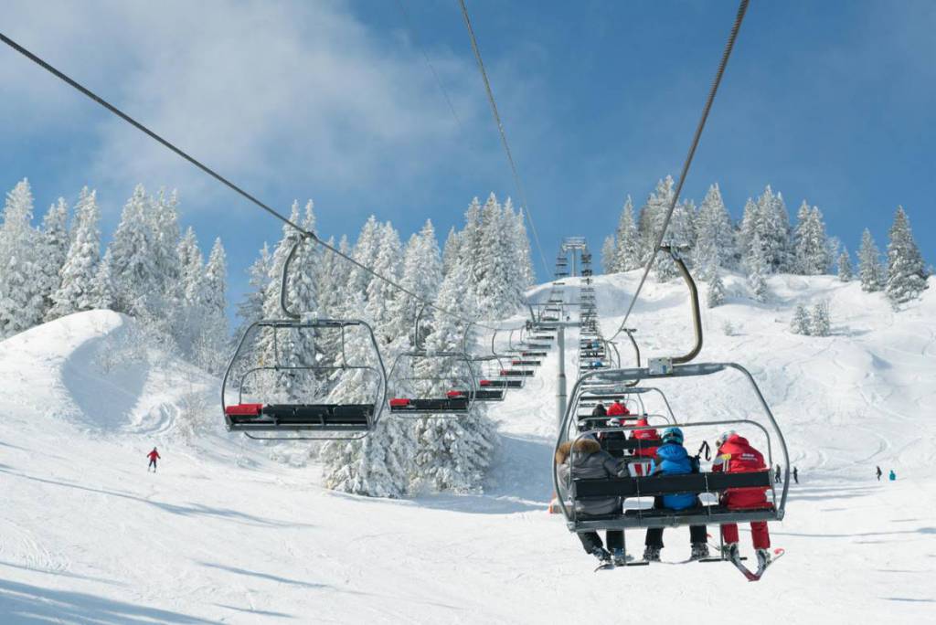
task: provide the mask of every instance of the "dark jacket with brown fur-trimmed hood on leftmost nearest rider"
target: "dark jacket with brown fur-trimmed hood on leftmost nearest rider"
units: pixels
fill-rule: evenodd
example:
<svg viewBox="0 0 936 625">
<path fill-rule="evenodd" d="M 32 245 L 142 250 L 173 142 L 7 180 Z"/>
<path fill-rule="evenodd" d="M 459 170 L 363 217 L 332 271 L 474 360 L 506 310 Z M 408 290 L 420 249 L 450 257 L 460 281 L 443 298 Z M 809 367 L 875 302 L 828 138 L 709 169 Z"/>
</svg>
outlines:
<svg viewBox="0 0 936 625">
<path fill-rule="evenodd" d="M 570 458 L 571 455 L 571 458 Z M 571 461 L 571 468 L 570 468 Z M 575 449 L 571 441 L 560 445 L 556 452 L 559 469 L 560 496 L 568 499 L 572 478 L 622 477 L 627 474 L 627 463 L 603 451 L 601 444 L 591 436 L 577 439 Z M 577 515 L 613 515 L 621 512 L 620 497 L 587 499 L 575 502 Z"/>
</svg>

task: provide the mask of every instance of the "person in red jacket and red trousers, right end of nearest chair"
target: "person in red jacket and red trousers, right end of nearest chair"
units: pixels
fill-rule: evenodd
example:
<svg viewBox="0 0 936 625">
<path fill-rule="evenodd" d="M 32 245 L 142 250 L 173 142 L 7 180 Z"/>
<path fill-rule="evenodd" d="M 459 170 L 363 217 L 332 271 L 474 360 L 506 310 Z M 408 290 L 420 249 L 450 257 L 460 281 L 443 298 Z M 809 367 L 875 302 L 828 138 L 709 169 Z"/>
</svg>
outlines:
<svg viewBox="0 0 936 625">
<path fill-rule="evenodd" d="M 744 473 L 767 471 L 764 456 L 734 430 L 724 432 L 718 437 L 718 452 L 711 465 L 713 472 Z M 729 510 L 754 510 L 769 507 L 767 487 L 728 488 L 722 494 L 720 503 Z M 751 537 L 757 552 L 758 568 L 764 569 L 770 563 L 770 534 L 767 521 L 751 522 Z M 725 523 L 722 526 L 724 549 L 730 559 L 738 556 L 738 524 Z"/>
</svg>

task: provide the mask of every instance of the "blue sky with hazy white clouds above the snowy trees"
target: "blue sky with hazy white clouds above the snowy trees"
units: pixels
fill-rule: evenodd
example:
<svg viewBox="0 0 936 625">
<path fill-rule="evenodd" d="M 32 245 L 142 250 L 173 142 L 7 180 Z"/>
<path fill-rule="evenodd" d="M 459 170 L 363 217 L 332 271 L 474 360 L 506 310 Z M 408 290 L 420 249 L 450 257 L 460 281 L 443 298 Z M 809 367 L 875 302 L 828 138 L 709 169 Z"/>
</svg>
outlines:
<svg viewBox="0 0 936 625">
<path fill-rule="evenodd" d="M 9 1 L 0 23 L 273 206 L 314 199 L 326 236 L 373 212 L 444 237 L 472 196 L 517 194 L 458 3 L 401 1 L 409 24 L 396 0 Z M 547 258 L 563 235 L 598 248 L 627 194 L 678 173 L 737 3 L 468 4 Z M 739 216 L 769 183 L 853 252 L 902 204 L 933 262 L 933 32 L 926 0 L 753 2 L 685 196 L 719 182 Z M 96 187 L 108 233 L 136 182 L 177 187 L 242 292 L 277 223 L 12 51 L 0 85 L 0 186 L 28 177 L 37 212 Z"/>
</svg>

